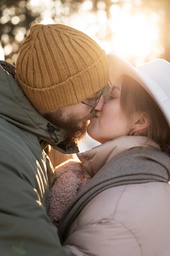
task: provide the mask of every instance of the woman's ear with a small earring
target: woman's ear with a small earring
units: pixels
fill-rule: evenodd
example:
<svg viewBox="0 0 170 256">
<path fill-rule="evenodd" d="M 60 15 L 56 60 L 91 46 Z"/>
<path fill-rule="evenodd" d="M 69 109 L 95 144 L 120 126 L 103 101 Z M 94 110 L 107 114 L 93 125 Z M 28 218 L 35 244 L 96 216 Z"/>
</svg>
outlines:
<svg viewBox="0 0 170 256">
<path fill-rule="evenodd" d="M 137 121 L 134 124 L 133 132 L 144 132 L 149 126 L 149 117 L 146 112 L 137 115 Z"/>
</svg>

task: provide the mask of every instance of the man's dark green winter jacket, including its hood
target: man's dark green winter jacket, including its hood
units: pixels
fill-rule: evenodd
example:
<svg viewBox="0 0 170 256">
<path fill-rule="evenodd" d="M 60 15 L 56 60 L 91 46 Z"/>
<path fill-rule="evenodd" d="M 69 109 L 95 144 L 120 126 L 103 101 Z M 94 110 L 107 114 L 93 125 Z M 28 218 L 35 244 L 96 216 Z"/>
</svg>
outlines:
<svg viewBox="0 0 170 256">
<path fill-rule="evenodd" d="M 43 148 L 76 153 L 0 66 L 0 256 L 72 256 L 48 218 L 53 168 Z"/>
</svg>

